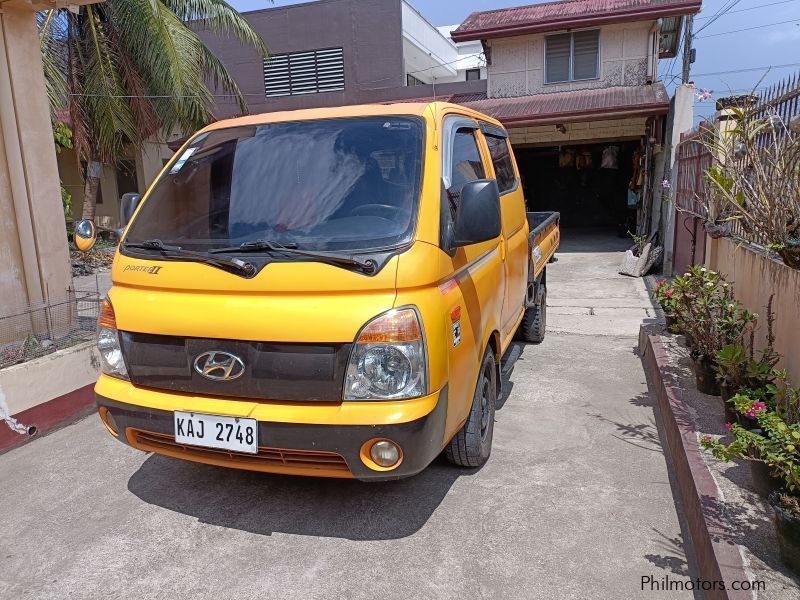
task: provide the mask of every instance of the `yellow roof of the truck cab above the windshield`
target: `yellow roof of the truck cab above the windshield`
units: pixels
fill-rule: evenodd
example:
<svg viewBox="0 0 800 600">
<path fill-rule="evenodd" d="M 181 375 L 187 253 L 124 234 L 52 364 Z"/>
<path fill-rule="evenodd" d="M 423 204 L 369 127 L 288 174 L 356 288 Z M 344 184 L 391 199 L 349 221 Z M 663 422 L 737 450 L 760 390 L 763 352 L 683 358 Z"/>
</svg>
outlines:
<svg viewBox="0 0 800 600">
<path fill-rule="evenodd" d="M 277 112 L 258 113 L 236 117 L 233 119 L 223 119 L 208 125 L 203 131 L 223 129 L 227 127 L 238 127 L 241 125 L 263 125 L 267 123 L 280 123 L 284 121 L 308 121 L 312 119 L 336 119 L 344 117 L 371 117 L 381 115 L 415 115 L 422 116 L 425 111 L 437 112 L 457 112 L 464 115 L 487 121 L 502 127 L 502 124 L 478 111 L 451 104 L 449 102 L 393 102 L 386 104 L 355 104 L 348 106 L 326 107 L 326 108 L 305 108 L 300 110 L 283 110 Z"/>
</svg>

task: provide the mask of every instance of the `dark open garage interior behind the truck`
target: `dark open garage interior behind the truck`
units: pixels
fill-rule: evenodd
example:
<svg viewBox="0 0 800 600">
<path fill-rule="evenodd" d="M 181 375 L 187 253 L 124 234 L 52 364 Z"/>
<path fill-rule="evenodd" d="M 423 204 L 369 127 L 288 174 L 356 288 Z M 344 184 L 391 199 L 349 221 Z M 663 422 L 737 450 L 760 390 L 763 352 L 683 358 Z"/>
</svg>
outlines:
<svg viewBox="0 0 800 600">
<path fill-rule="evenodd" d="M 557 210 L 565 228 L 636 230 L 640 141 L 514 147 L 528 210 Z"/>
</svg>

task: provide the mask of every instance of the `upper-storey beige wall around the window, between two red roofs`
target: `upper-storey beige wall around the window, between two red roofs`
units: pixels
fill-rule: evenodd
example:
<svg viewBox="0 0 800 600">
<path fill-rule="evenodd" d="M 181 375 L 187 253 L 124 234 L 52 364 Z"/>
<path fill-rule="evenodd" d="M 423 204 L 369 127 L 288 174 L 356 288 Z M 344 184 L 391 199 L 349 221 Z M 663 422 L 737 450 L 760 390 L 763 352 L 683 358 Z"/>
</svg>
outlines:
<svg viewBox="0 0 800 600">
<path fill-rule="evenodd" d="M 600 29 L 600 78 L 568 83 L 544 83 L 545 35 L 488 40 L 489 96 L 509 98 L 647 83 L 652 21 L 610 25 Z"/>
</svg>

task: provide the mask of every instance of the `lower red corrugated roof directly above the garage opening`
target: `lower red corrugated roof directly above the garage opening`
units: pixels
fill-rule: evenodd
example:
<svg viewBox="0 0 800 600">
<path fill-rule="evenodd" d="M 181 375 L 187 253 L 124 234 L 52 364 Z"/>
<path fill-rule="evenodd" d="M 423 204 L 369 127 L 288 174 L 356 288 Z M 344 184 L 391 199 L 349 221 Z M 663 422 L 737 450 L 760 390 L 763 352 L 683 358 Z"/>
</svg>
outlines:
<svg viewBox="0 0 800 600">
<path fill-rule="evenodd" d="M 554 92 L 519 98 L 453 94 L 436 98 L 410 98 L 400 102 L 433 100 L 462 104 L 494 117 L 507 127 L 653 116 L 669 111 L 669 95 L 660 81 L 652 85 Z"/>
</svg>

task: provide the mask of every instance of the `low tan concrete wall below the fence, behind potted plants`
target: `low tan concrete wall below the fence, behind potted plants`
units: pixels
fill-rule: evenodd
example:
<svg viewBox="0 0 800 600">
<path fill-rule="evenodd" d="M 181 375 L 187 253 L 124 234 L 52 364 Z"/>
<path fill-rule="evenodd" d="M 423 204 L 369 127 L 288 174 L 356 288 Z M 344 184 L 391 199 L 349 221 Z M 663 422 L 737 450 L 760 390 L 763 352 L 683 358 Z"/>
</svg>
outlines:
<svg viewBox="0 0 800 600">
<path fill-rule="evenodd" d="M 710 239 L 706 264 L 734 284 L 736 298 L 761 317 L 756 348 L 766 343 L 766 306 L 775 294 L 775 349 L 783 355 L 781 368 L 800 385 L 800 271 L 791 269 L 730 238 Z"/>
</svg>

